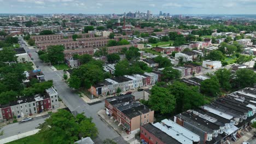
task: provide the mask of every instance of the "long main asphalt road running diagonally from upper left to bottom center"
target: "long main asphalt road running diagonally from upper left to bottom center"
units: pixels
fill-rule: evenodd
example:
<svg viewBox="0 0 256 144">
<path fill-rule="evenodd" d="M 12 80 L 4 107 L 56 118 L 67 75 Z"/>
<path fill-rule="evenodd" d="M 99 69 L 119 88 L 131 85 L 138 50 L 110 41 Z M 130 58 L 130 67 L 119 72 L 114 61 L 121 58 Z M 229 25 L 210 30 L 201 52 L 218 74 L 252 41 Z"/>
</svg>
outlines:
<svg viewBox="0 0 256 144">
<path fill-rule="evenodd" d="M 21 45 L 24 49 L 31 53 L 34 58 L 33 62 L 35 65 L 39 66 L 44 73 L 45 80 L 53 80 L 54 88 L 57 90 L 59 97 L 62 99 L 63 103 L 71 111 L 76 113 L 84 112 L 87 117 L 92 117 L 92 122 L 96 124 L 98 128 L 98 137 L 95 143 L 101 143 L 104 139 L 115 139 L 119 140 L 119 143 L 126 143 L 115 130 L 113 130 L 106 122 L 103 122 L 101 118 L 97 115 L 97 111 L 104 109 L 104 103 L 98 103 L 95 105 L 88 105 L 82 100 L 79 95 L 75 94 L 71 88 L 62 80 L 62 71 L 54 71 L 47 64 L 43 63 L 35 50 L 27 49 L 25 45 Z M 123 142 L 120 142 L 123 141 Z"/>
</svg>

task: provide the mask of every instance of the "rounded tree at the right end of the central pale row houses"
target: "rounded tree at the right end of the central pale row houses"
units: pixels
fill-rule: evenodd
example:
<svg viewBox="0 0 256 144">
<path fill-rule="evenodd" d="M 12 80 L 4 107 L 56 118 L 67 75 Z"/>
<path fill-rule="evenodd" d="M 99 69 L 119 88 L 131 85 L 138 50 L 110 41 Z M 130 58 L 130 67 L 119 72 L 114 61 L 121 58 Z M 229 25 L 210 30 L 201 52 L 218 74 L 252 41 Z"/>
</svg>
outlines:
<svg viewBox="0 0 256 144">
<path fill-rule="evenodd" d="M 173 69 L 172 67 L 166 67 L 162 70 L 162 80 L 171 81 L 174 79 L 179 79 L 181 77 L 181 72 L 177 69 Z"/>
</svg>

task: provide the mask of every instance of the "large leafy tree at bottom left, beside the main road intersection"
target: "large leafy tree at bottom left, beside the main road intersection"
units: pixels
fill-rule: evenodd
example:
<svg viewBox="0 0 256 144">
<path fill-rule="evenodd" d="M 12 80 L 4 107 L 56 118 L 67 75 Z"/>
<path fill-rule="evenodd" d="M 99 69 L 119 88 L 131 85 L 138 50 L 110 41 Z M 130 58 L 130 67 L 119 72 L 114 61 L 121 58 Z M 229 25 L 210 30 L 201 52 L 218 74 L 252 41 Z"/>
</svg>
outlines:
<svg viewBox="0 0 256 144">
<path fill-rule="evenodd" d="M 82 119 L 78 122 L 70 112 L 61 109 L 40 124 L 39 133 L 43 135 L 46 143 L 69 144 L 74 143 L 80 137 L 95 137 L 98 132 L 91 118 Z"/>
</svg>

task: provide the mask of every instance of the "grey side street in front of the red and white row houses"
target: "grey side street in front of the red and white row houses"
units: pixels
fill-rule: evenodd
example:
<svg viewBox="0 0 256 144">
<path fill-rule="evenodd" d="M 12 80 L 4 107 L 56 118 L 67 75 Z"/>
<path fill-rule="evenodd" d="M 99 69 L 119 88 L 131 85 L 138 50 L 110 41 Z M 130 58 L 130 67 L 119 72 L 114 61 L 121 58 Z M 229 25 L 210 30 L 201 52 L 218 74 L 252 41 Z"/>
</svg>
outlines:
<svg viewBox="0 0 256 144">
<path fill-rule="evenodd" d="M 13 123 L 5 125 L 1 131 L 4 131 L 4 135 L 0 136 L 0 139 L 4 139 L 9 136 L 18 135 L 21 133 L 25 133 L 30 130 L 36 129 L 40 123 L 44 122 L 44 119 L 48 118 L 48 116 L 40 116 L 35 117 L 32 121 L 24 122 L 24 123 Z"/>
</svg>

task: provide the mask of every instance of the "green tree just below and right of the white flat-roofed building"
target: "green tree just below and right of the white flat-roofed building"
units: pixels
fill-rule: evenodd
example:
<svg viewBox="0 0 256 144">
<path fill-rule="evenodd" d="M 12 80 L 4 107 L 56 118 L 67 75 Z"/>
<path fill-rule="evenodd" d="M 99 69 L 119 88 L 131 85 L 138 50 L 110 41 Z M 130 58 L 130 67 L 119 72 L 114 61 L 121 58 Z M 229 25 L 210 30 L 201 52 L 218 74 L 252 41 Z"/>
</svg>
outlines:
<svg viewBox="0 0 256 144">
<path fill-rule="evenodd" d="M 224 91 L 230 91 L 231 71 L 228 69 L 219 69 L 215 72 L 215 75 L 219 81 L 220 88 L 224 89 Z"/>
</svg>

